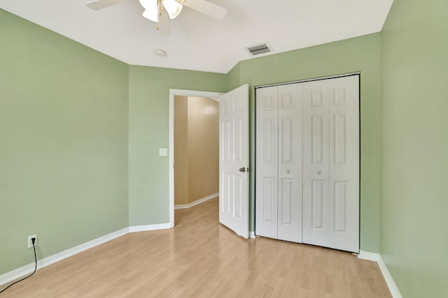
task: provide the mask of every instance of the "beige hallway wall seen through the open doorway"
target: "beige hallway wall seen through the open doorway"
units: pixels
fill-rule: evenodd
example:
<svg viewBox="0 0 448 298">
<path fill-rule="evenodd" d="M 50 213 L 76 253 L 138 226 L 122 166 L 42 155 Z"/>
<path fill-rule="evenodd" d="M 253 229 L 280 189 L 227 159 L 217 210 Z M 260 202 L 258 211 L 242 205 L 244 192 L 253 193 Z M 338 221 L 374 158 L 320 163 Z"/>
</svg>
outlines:
<svg viewBox="0 0 448 298">
<path fill-rule="evenodd" d="M 174 204 L 219 191 L 219 104 L 202 97 L 174 97 Z"/>
</svg>

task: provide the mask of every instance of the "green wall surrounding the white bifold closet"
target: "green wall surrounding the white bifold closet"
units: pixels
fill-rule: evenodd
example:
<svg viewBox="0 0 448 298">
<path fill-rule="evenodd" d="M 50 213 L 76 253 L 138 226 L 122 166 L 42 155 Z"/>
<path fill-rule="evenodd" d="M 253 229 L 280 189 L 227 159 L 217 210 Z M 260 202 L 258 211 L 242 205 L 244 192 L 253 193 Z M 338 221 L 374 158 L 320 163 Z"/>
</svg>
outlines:
<svg viewBox="0 0 448 298">
<path fill-rule="evenodd" d="M 250 85 L 251 144 L 255 144 L 254 86 L 360 71 L 361 184 L 360 247 L 379 252 L 380 33 L 239 62 L 229 73 L 230 89 Z M 251 167 L 255 164 L 251 146 Z M 251 173 L 251 190 L 254 189 Z M 253 230 L 254 196 L 250 209 Z"/>
</svg>

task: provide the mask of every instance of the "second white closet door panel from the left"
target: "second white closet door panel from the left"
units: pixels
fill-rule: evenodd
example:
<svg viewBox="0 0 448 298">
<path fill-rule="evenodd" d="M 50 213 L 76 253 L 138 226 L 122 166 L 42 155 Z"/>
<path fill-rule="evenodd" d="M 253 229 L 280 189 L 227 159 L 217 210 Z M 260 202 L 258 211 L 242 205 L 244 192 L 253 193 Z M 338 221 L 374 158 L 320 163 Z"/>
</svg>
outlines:
<svg viewBox="0 0 448 298">
<path fill-rule="evenodd" d="M 302 242 L 302 85 L 278 89 L 278 239 Z"/>
</svg>

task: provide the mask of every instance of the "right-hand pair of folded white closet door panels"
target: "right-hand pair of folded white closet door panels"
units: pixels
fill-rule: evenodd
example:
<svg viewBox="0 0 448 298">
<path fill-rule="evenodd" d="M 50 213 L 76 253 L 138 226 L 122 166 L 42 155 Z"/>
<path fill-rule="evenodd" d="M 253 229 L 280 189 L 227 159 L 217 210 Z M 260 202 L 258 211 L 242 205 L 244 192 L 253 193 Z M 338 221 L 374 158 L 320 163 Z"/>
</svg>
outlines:
<svg viewBox="0 0 448 298">
<path fill-rule="evenodd" d="M 303 83 L 303 109 L 302 240 L 358 252 L 358 76 Z"/>
</svg>

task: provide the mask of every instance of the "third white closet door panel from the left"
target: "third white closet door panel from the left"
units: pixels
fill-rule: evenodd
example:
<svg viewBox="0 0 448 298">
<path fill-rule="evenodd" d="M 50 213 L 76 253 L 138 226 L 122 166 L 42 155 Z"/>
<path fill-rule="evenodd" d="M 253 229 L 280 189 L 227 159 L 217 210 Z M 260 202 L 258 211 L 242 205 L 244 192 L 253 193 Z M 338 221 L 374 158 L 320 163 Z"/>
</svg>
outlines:
<svg viewBox="0 0 448 298">
<path fill-rule="evenodd" d="M 325 80 L 302 83 L 303 230 L 307 244 L 328 237 L 328 92 Z M 324 239 L 321 242 L 321 239 Z"/>
</svg>

